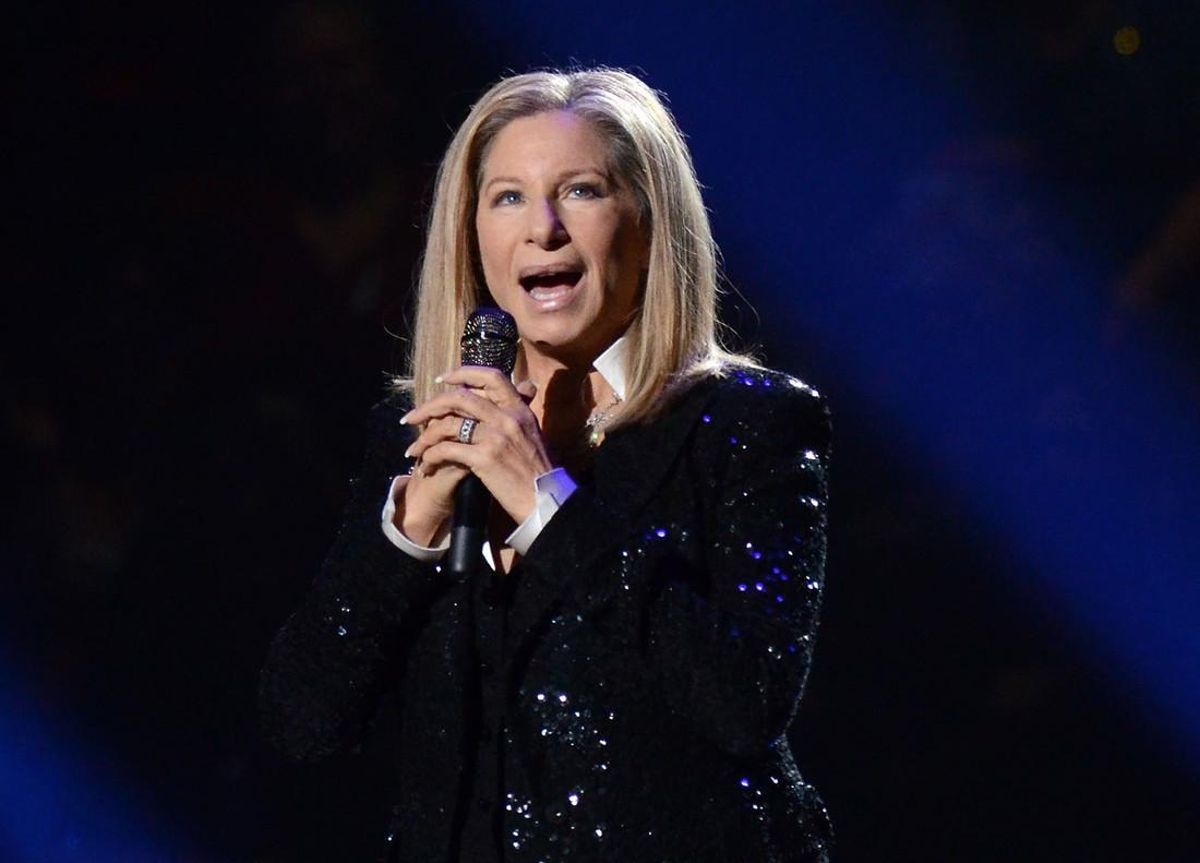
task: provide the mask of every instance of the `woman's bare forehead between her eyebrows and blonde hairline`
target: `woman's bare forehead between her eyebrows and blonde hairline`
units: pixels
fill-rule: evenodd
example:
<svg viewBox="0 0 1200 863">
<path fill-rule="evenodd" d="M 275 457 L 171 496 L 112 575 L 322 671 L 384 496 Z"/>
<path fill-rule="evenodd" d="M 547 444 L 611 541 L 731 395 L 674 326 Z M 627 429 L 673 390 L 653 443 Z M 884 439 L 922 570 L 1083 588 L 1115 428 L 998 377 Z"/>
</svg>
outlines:
<svg viewBox="0 0 1200 863">
<path fill-rule="evenodd" d="M 611 148 L 595 124 L 570 110 L 522 116 L 484 154 L 482 178 L 575 168 L 607 169 Z"/>
</svg>

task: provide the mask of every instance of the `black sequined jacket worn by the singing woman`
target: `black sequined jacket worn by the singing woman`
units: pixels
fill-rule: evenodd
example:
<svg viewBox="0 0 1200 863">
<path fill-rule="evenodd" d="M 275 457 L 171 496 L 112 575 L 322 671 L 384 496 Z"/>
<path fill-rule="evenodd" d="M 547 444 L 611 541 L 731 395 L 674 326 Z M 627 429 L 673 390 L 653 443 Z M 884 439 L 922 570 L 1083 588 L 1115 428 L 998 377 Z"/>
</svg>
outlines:
<svg viewBox="0 0 1200 863">
<path fill-rule="evenodd" d="M 395 861 L 826 861 L 785 737 L 822 592 L 823 397 L 733 371 L 613 431 L 502 585 L 383 535 L 406 407 L 372 410 L 338 538 L 271 647 L 274 742 L 343 750 L 395 690 Z"/>
</svg>

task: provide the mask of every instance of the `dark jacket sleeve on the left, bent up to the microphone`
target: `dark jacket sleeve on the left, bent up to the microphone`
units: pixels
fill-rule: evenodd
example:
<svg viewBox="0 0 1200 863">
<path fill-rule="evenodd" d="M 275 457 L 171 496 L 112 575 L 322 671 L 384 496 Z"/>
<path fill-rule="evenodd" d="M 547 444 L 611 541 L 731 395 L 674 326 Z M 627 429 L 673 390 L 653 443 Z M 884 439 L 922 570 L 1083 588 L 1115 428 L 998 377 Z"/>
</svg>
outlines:
<svg viewBox="0 0 1200 863">
<path fill-rule="evenodd" d="M 407 466 L 403 410 L 397 398 L 371 410 L 366 456 L 337 539 L 262 670 L 263 729 L 295 760 L 359 742 L 398 659 L 404 627 L 416 625 L 418 612 L 443 586 L 432 564 L 397 550 L 380 529 L 389 480 Z"/>
</svg>

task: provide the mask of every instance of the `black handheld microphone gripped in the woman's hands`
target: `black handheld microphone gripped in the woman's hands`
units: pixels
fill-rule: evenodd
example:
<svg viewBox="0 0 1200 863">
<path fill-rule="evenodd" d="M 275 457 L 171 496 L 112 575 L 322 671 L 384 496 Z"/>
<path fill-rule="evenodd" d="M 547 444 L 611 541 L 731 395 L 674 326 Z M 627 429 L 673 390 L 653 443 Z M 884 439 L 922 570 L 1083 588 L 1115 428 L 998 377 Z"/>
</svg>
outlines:
<svg viewBox="0 0 1200 863">
<path fill-rule="evenodd" d="M 517 361 L 517 322 L 503 308 L 476 308 L 462 331 L 462 364 L 512 373 Z M 450 571 L 474 575 L 484 551 L 487 510 L 492 495 L 475 474 L 468 474 L 454 492 L 450 522 Z"/>
</svg>

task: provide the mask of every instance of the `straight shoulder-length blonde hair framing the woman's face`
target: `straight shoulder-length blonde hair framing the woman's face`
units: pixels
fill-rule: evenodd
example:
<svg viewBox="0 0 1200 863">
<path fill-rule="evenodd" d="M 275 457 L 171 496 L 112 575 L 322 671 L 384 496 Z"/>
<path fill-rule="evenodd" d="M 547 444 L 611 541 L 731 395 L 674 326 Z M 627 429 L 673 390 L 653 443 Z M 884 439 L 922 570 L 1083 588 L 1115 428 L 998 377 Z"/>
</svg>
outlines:
<svg viewBox="0 0 1200 863">
<path fill-rule="evenodd" d="M 649 419 L 704 374 L 752 365 L 721 347 L 718 263 L 691 154 L 674 118 L 637 77 L 614 68 L 544 71 L 504 78 L 472 107 L 438 168 L 408 378 L 415 403 L 434 376 L 460 364 L 470 312 L 490 302 L 479 266 L 474 212 L 488 148 L 512 120 L 570 110 L 607 138 L 612 170 L 635 194 L 650 253 L 641 308 L 625 332 L 626 397 L 612 426 Z M 610 427 L 612 427 L 610 426 Z"/>
</svg>

